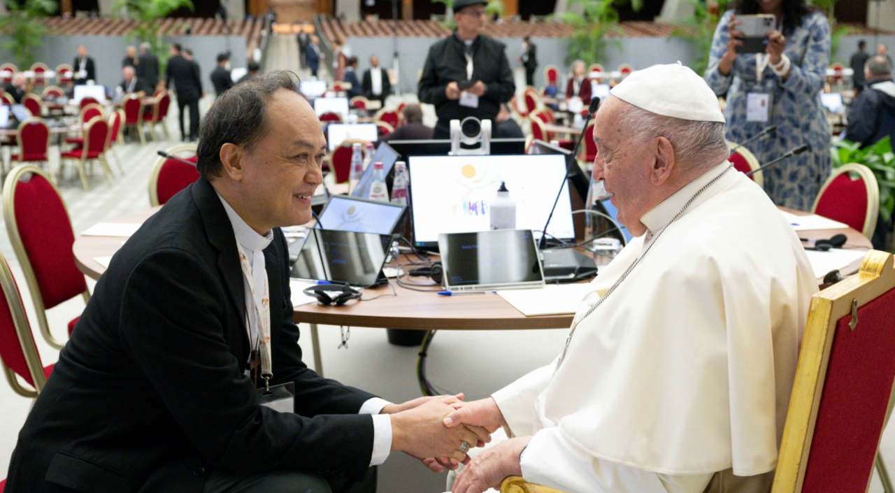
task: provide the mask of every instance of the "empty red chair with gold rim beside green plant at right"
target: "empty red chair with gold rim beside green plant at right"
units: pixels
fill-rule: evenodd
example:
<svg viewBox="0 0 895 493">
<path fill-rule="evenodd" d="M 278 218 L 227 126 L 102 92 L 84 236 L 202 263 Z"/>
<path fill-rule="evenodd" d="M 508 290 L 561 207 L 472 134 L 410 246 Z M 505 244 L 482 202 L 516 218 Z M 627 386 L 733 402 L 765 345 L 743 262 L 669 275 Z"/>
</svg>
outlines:
<svg viewBox="0 0 895 493">
<path fill-rule="evenodd" d="M 874 172 L 855 163 L 836 168 L 823 183 L 811 211 L 873 238 L 880 213 L 880 187 Z"/>
</svg>

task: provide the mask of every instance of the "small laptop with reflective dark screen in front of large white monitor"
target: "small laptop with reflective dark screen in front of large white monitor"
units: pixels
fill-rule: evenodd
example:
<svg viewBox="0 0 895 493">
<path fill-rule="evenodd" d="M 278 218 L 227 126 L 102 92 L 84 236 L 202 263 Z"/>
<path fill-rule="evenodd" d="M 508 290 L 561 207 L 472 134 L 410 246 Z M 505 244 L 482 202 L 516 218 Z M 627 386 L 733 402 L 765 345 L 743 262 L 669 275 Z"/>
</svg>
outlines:
<svg viewBox="0 0 895 493">
<path fill-rule="evenodd" d="M 447 291 L 491 291 L 544 285 L 541 257 L 530 229 L 439 234 Z"/>
</svg>

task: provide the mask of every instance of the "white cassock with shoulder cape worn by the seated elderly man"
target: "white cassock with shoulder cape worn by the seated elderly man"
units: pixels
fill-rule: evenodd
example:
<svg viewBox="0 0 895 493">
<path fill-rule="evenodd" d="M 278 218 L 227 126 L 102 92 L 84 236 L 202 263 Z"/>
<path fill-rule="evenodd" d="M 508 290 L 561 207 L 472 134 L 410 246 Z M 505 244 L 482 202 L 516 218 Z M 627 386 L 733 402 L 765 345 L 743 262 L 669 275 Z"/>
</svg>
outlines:
<svg viewBox="0 0 895 493">
<path fill-rule="evenodd" d="M 533 435 L 525 480 L 569 493 L 770 491 L 817 285 L 792 226 L 733 169 L 671 223 L 728 166 L 641 218 L 647 233 L 601 270 L 575 319 L 655 245 L 580 323 L 558 370 L 493 395 L 507 433 Z"/>
</svg>

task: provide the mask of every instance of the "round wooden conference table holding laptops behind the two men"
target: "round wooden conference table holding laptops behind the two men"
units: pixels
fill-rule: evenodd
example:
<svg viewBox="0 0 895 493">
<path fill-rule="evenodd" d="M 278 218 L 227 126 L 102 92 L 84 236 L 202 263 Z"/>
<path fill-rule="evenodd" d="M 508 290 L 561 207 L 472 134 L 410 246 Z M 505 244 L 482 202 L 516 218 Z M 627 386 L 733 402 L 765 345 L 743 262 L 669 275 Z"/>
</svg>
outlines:
<svg viewBox="0 0 895 493">
<path fill-rule="evenodd" d="M 147 208 L 104 222 L 142 224 L 158 209 Z M 807 214 L 791 209 L 783 210 L 799 215 Z M 830 238 L 833 234 L 846 235 L 846 248 L 872 248 L 870 240 L 852 228 L 801 231 L 799 237 L 816 240 Z M 72 247 L 75 264 L 85 275 L 98 280 L 106 272 L 106 268 L 96 259 L 115 255 L 123 244 L 124 238 L 120 236 L 79 236 Z M 854 274 L 858 268 L 860 261 L 848 266 L 841 274 Z M 413 278 L 405 281 L 406 284 L 415 282 Z M 422 281 L 421 286 L 424 287 L 425 282 Z M 432 292 L 398 286 L 395 279 L 389 279 L 389 283 L 395 289 L 396 296 L 390 295 L 391 288 L 383 286 L 366 290 L 371 293 L 371 297 L 384 295 L 371 302 L 356 302 L 341 307 L 308 303 L 294 308 L 294 322 L 311 326 L 314 367 L 320 375 L 323 374 L 323 365 L 320 361 L 318 324 L 415 330 L 511 330 L 568 328 L 573 319 L 572 314 L 526 317 L 497 294 L 439 296 Z"/>
</svg>

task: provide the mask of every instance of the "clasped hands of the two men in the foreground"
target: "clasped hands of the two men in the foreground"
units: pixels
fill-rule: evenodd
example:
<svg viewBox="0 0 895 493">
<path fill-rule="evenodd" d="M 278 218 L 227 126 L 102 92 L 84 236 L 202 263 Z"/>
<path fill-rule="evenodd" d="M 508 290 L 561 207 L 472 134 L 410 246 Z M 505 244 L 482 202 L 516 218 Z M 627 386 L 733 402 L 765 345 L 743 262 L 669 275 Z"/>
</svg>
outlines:
<svg viewBox="0 0 895 493">
<path fill-rule="evenodd" d="M 466 453 L 484 446 L 491 433 L 505 425 L 493 399 L 463 402 L 463 394 L 420 397 L 404 404 L 389 404 L 392 447 L 420 459 L 434 472 L 468 463 Z"/>
</svg>

